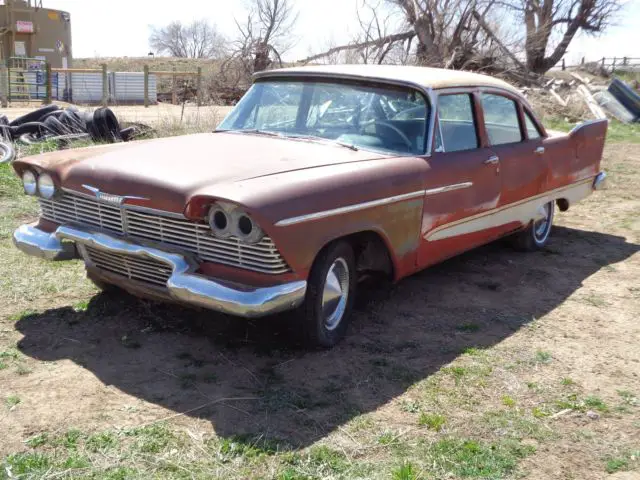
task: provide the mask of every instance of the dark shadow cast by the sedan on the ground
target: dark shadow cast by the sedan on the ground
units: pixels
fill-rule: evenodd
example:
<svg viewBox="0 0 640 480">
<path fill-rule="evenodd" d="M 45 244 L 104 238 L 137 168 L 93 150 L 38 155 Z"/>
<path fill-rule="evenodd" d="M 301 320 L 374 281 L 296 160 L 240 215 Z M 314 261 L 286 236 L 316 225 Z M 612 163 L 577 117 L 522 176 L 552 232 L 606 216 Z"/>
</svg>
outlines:
<svg viewBox="0 0 640 480">
<path fill-rule="evenodd" d="M 640 250 L 612 235 L 554 232 L 542 252 L 497 243 L 392 287 L 363 286 L 347 338 L 330 351 L 296 347 L 287 316 L 247 322 L 122 292 L 97 295 L 84 311 L 23 317 L 19 348 L 71 359 L 105 384 L 210 421 L 222 437 L 299 448 L 402 395 L 465 348 L 499 343 Z"/>
</svg>

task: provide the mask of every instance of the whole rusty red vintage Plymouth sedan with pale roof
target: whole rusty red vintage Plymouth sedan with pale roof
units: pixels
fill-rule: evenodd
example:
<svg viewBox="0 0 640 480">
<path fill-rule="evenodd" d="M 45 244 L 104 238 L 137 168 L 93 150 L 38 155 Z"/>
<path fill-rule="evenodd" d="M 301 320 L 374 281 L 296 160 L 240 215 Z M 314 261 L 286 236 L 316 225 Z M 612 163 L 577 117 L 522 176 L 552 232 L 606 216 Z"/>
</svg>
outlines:
<svg viewBox="0 0 640 480">
<path fill-rule="evenodd" d="M 606 120 L 550 133 L 484 75 L 327 66 L 258 73 L 212 133 L 14 162 L 40 218 L 14 233 L 101 288 L 240 317 L 296 310 L 345 334 L 358 280 L 393 281 L 501 237 L 547 243 L 599 189 Z"/>
</svg>

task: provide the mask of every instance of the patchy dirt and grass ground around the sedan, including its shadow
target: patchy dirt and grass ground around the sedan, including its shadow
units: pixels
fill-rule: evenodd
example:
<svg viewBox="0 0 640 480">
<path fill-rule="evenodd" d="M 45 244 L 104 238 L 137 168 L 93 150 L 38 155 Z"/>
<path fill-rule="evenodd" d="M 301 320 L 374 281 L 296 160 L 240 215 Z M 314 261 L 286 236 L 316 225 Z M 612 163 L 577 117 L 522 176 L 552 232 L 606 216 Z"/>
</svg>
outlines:
<svg viewBox="0 0 640 480">
<path fill-rule="evenodd" d="M 0 165 L 0 479 L 637 478 L 640 145 L 618 131 L 608 189 L 544 251 L 369 285 L 331 351 L 21 254 L 37 206 Z"/>
</svg>

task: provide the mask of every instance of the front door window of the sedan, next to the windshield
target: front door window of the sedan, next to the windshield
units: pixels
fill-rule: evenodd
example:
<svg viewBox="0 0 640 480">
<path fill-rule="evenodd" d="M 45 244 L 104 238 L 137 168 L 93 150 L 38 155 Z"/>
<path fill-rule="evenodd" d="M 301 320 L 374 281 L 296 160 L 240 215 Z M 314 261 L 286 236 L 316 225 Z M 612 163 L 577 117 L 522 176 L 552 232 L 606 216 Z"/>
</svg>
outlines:
<svg viewBox="0 0 640 480">
<path fill-rule="evenodd" d="M 459 152 L 478 148 L 471 95 L 460 93 L 439 96 L 438 120 L 440 125 L 436 135 L 436 151 Z"/>
</svg>

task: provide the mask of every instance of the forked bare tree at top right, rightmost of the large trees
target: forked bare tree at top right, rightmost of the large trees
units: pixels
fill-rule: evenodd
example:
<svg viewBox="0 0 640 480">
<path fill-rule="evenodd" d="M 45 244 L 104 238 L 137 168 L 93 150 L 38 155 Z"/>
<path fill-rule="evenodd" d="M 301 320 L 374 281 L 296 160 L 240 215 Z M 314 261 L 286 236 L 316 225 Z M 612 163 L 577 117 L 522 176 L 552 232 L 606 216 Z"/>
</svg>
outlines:
<svg viewBox="0 0 640 480">
<path fill-rule="evenodd" d="M 621 7 L 619 0 L 514 0 L 501 4 L 524 22 L 527 69 L 540 74 L 560 61 L 578 31 L 604 31 Z"/>
</svg>

